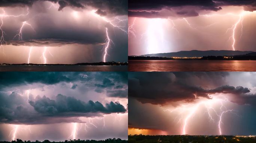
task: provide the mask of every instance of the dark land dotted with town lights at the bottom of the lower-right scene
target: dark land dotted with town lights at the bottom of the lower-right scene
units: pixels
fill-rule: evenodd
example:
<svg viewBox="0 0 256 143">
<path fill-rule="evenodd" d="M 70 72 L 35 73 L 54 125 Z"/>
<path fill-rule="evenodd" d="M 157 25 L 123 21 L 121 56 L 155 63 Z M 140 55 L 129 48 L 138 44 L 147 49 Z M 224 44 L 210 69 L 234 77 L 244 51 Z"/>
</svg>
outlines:
<svg viewBox="0 0 256 143">
<path fill-rule="evenodd" d="M 255 136 L 129 135 L 128 143 L 256 143 Z"/>
</svg>

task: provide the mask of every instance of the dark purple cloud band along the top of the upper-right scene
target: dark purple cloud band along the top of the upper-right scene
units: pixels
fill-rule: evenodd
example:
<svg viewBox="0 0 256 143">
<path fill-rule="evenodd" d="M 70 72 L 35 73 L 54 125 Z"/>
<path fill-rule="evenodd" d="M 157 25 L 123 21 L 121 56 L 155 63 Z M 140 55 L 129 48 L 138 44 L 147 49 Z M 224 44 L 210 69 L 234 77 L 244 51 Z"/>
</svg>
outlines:
<svg viewBox="0 0 256 143">
<path fill-rule="evenodd" d="M 201 11 L 218 11 L 223 6 L 243 6 L 246 11 L 256 10 L 255 0 L 129 0 L 130 17 L 167 18 L 198 16 Z"/>
</svg>

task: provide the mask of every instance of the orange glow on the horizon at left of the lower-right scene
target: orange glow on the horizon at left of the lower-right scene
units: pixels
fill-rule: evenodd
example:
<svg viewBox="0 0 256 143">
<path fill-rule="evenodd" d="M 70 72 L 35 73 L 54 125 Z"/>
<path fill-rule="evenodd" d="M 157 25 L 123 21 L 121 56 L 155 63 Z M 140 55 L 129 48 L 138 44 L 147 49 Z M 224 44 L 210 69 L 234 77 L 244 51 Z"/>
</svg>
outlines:
<svg viewBox="0 0 256 143">
<path fill-rule="evenodd" d="M 154 130 L 154 129 L 139 129 L 128 128 L 128 135 L 143 134 L 143 135 L 168 135 L 166 131 Z"/>
</svg>

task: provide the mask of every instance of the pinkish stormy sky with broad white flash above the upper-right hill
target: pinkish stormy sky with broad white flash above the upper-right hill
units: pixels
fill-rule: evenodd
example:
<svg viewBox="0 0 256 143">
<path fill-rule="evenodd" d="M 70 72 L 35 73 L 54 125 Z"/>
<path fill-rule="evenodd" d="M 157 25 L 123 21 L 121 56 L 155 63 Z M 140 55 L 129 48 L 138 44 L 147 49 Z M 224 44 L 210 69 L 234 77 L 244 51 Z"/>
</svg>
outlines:
<svg viewBox="0 0 256 143">
<path fill-rule="evenodd" d="M 255 0 L 129 0 L 128 55 L 255 51 Z"/>
</svg>

